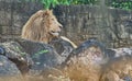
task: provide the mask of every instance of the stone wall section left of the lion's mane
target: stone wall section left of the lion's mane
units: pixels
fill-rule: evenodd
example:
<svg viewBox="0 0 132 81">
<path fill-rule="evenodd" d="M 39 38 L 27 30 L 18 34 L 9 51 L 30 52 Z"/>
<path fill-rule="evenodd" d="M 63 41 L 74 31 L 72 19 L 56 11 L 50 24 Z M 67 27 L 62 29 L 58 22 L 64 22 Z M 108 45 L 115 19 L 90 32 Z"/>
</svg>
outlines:
<svg viewBox="0 0 132 81">
<path fill-rule="evenodd" d="M 24 23 L 40 9 L 43 9 L 43 4 L 38 2 L 0 0 L 0 40 L 20 37 Z"/>
</svg>

